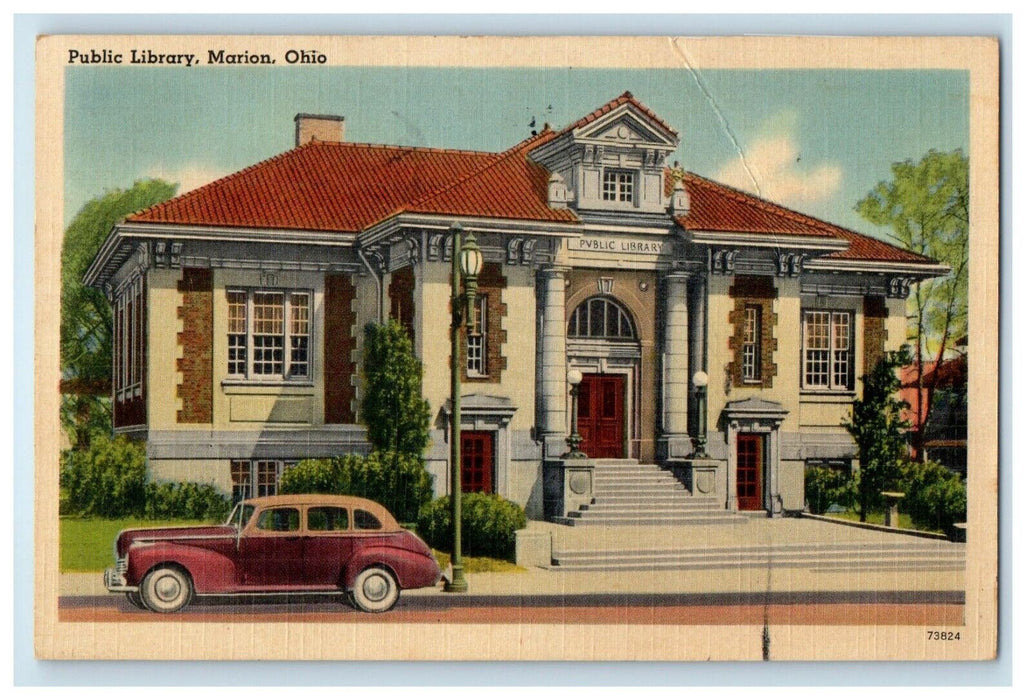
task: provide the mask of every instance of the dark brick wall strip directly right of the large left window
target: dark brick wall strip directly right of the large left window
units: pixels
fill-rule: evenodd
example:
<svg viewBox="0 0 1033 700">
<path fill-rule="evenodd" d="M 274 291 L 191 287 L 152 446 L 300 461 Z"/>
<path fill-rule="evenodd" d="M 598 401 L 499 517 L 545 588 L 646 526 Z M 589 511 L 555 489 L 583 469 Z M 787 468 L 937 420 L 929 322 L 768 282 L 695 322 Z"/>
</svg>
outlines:
<svg viewBox="0 0 1033 700">
<path fill-rule="evenodd" d="M 323 382 L 323 404 L 327 423 L 353 423 L 355 411 L 355 387 L 351 378 L 355 376 L 355 362 L 351 357 L 355 347 L 352 328 L 355 312 L 351 308 L 355 298 L 355 285 L 348 275 L 327 275 L 326 293 L 323 298 L 325 318 L 325 339 L 323 341 L 323 367 L 326 378 Z"/>
</svg>

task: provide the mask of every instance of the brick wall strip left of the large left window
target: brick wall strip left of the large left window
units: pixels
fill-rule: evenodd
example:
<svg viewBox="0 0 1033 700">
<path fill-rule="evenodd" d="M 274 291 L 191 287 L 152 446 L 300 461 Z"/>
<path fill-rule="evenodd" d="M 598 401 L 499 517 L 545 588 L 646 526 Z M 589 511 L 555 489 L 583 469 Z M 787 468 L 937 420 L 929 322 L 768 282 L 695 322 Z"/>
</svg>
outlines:
<svg viewBox="0 0 1033 700">
<path fill-rule="evenodd" d="M 183 330 L 176 335 L 176 343 L 183 349 L 183 356 L 176 360 L 183 377 L 176 395 L 183 401 L 183 408 L 176 412 L 176 422 L 211 423 L 212 271 L 184 267 L 176 288 L 183 294 L 177 309 Z"/>
</svg>

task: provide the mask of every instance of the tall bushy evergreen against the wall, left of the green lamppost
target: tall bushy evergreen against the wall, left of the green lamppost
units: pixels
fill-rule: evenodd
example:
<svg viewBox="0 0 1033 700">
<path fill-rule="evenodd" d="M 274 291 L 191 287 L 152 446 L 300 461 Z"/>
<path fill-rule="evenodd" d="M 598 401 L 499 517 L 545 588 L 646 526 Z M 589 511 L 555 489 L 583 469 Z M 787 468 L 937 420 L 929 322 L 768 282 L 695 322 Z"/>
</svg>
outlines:
<svg viewBox="0 0 1033 700">
<path fill-rule="evenodd" d="M 422 394 L 424 365 L 402 325 L 366 326 L 366 390 L 359 417 L 373 449 L 419 457 L 430 439 L 431 405 Z"/>
</svg>

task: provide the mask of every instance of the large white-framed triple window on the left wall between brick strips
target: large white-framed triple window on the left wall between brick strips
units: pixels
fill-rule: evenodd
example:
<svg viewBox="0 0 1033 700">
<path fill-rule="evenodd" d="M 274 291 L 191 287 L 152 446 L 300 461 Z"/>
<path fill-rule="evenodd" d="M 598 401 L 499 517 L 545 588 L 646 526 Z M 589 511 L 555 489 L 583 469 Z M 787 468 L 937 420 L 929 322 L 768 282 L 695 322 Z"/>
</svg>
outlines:
<svg viewBox="0 0 1033 700">
<path fill-rule="evenodd" d="M 306 291 L 226 291 L 226 374 L 240 379 L 308 379 L 312 316 Z"/>
</svg>

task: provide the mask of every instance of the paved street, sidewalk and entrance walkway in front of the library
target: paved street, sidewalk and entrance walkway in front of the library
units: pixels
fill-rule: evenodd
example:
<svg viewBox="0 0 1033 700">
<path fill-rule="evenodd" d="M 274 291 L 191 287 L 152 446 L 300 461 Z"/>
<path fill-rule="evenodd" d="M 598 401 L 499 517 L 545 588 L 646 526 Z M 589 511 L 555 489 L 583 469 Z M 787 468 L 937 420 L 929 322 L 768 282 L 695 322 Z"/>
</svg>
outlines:
<svg viewBox="0 0 1033 700">
<path fill-rule="evenodd" d="M 516 573 L 469 574 L 467 594 L 407 591 L 381 615 L 354 611 L 338 596 L 201 598 L 159 616 L 107 594 L 99 573 L 61 577 L 59 614 L 67 622 L 508 623 L 628 625 L 927 625 L 963 622 L 964 570 L 876 564 L 870 553 L 889 545 L 959 547 L 895 533 L 815 520 L 757 519 L 725 528 L 564 528 L 556 549 L 657 548 L 692 542 L 744 551 L 764 545 L 860 549 L 850 566 L 722 566 L 691 570 L 562 571 L 531 567 Z M 745 555 L 745 554 L 744 554 Z"/>
</svg>

